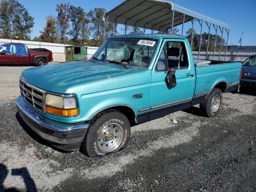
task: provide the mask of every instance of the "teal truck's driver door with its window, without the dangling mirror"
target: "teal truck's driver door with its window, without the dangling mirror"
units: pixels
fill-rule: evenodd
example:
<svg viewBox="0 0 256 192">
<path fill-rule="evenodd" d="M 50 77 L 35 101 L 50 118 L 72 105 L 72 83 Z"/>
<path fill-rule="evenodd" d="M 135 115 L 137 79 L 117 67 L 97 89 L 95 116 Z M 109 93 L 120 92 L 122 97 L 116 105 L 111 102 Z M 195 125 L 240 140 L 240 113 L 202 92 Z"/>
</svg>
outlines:
<svg viewBox="0 0 256 192">
<path fill-rule="evenodd" d="M 182 40 L 164 40 L 156 64 L 152 69 L 150 118 L 190 107 L 194 95 L 196 76 L 191 68 L 186 44 Z M 166 70 L 176 70 L 176 86 L 170 88 Z"/>
</svg>

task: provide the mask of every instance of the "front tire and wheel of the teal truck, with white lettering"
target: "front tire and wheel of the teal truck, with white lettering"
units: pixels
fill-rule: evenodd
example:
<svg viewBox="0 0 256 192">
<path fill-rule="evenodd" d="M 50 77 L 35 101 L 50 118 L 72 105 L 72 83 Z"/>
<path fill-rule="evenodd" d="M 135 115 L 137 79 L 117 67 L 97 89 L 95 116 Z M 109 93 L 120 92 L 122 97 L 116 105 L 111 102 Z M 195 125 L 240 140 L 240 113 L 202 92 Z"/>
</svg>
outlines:
<svg viewBox="0 0 256 192">
<path fill-rule="evenodd" d="M 90 122 L 80 150 L 89 157 L 105 156 L 125 148 L 129 139 L 126 116 L 118 110 L 106 110 Z"/>
</svg>

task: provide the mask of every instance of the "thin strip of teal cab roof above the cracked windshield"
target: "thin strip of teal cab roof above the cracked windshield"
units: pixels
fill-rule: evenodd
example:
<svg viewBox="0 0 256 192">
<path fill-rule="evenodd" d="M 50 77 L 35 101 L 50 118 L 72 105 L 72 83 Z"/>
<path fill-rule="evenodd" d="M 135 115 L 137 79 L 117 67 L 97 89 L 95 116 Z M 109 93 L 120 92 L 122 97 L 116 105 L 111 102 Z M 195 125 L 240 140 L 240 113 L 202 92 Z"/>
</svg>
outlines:
<svg viewBox="0 0 256 192">
<path fill-rule="evenodd" d="M 186 39 L 184 36 L 170 35 L 170 34 L 126 34 L 126 35 L 114 35 L 113 37 L 142 37 L 142 38 L 172 38 L 172 39 Z"/>
</svg>

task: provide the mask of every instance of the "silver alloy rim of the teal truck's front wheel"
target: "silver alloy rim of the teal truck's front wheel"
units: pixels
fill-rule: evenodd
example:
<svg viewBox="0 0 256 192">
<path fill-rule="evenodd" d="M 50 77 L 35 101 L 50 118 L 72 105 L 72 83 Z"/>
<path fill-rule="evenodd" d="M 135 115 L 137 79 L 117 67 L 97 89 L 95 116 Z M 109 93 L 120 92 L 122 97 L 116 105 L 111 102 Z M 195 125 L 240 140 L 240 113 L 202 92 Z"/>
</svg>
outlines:
<svg viewBox="0 0 256 192">
<path fill-rule="evenodd" d="M 98 136 L 98 148 L 105 153 L 112 152 L 120 146 L 123 136 L 124 131 L 119 124 L 107 124 Z"/>
</svg>

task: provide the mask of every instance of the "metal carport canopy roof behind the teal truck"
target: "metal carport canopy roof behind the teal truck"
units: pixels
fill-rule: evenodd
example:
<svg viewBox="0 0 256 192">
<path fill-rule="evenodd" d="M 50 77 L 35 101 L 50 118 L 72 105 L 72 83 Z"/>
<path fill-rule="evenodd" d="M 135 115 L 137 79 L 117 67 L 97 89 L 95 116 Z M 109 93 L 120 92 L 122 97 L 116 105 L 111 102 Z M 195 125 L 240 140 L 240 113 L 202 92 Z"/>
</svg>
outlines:
<svg viewBox="0 0 256 192">
<path fill-rule="evenodd" d="M 174 13 L 174 17 L 172 17 Z M 230 30 L 230 26 L 165 0 L 126 0 L 106 13 L 109 22 L 167 32 L 185 22 L 202 20 Z M 172 25 L 173 20 L 173 25 Z M 183 22 L 184 20 L 184 22 Z"/>
</svg>

